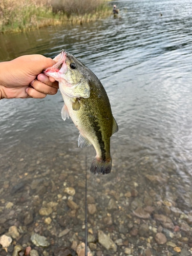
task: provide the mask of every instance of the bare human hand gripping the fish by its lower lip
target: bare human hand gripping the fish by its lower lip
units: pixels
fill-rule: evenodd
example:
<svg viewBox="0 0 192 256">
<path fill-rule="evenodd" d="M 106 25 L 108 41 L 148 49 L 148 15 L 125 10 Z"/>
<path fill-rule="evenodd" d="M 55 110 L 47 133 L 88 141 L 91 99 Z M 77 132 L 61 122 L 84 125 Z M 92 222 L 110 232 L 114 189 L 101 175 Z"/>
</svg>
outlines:
<svg viewBox="0 0 192 256">
<path fill-rule="evenodd" d="M 38 54 L 1 62 L 0 99 L 45 98 L 47 94 L 56 94 L 58 82 L 40 74 L 54 64 L 53 59 Z"/>
</svg>

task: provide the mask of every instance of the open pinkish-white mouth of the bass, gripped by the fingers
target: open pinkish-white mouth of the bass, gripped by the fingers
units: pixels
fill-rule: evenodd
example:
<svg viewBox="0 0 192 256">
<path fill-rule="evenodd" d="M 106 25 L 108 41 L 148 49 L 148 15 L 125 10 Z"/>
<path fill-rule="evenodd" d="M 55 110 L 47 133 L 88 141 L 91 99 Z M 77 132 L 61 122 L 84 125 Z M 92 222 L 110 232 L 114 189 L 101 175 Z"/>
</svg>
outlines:
<svg viewBox="0 0 192 256">
<path fill-rule="evenodd" d="M 59 55 L 57 55 L 54 60 L 57 62 L 55 65 L 53 65 L 50 68 L 45 69 L 43 72 L 47 76 L 52 76 L 53 78 L 60 78 L 61 74 L 66 73 L 68 70 L 67 64 L 66 64 L 66 55 L 67 52 L 65 50 L 62 50 Z"/>
</svg>

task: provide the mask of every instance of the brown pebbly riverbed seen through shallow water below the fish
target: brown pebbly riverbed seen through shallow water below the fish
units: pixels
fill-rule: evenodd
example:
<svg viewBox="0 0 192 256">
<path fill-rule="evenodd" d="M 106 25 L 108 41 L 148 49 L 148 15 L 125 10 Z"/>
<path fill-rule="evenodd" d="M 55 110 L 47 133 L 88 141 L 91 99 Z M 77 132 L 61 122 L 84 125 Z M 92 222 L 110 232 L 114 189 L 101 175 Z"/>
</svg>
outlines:
<svg viewBox="0 0 192 256">
<path fill-rule="evenodd" d="M 111 174 L 94 176 L 92 147 L 47 146 L 52 154 L 24 146 L 9 161 L 1 156 L 1 255 L 83 255 L 86 154 L 89 255 L 191 255 L 191 196 L 174 166 L 154 172 L 147 157 L 131 166 L 120 145 Z"/>
</svg>

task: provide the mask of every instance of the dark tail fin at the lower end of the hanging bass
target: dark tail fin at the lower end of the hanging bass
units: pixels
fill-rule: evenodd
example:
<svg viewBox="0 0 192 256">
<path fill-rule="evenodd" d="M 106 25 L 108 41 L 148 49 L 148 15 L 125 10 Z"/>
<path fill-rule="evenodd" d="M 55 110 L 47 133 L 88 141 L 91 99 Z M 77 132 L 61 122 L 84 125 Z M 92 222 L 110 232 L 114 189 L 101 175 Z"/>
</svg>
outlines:
<svg viewBox="0 0 192 256">
<path fill-rule="evenodd" d="M 102 160 L 102 159 L 97 159 L 97 157 L 95 157 L 91 164 L 90 171 L 96 175 L 109 174 L 111 172 L 111 165 L 112 165 L 111 158 L 109 160 Z"/>
</svg>

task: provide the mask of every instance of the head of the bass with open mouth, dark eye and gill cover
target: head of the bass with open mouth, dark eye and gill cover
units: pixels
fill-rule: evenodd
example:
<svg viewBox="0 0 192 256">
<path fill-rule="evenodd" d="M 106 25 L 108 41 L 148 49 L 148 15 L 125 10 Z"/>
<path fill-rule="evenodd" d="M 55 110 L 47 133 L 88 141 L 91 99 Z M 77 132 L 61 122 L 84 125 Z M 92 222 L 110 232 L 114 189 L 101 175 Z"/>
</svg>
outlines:
<svg viewBox="0 0 192 256">
<path fill-rule="evenodd" d="M 44 74 L 59 82 L 61 93 L 69 97 L 89 98 L 89 72 L 72 54 L 62 50 L 54 60 L 56 64 L 44 70 Z"/>
</svg>

